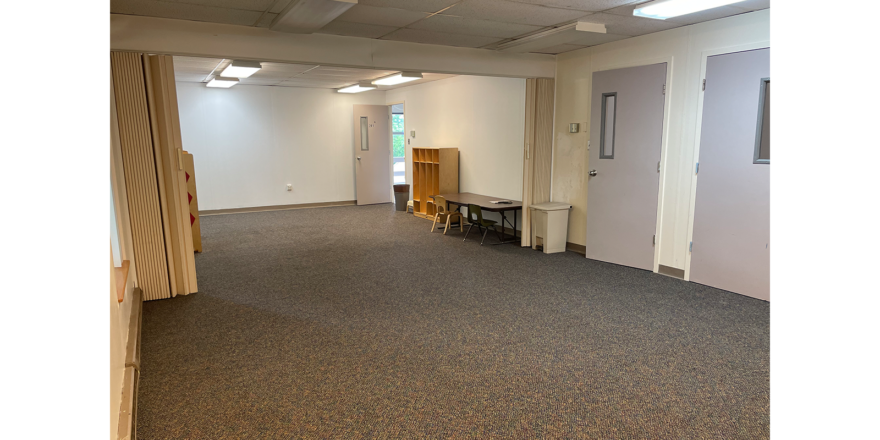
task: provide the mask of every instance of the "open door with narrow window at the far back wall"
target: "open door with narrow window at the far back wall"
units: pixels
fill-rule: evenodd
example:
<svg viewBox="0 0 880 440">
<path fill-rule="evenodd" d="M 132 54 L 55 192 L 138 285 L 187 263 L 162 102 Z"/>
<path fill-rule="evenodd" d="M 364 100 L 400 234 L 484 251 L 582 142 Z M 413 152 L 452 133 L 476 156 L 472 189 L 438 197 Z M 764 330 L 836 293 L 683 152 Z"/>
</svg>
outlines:
<svg viewBox="0 0 880 440">
<path fill-rule="evenodd" d="M 391 108 L 354 106 L 358 206 L 391 203 Z"/>
</svg>

